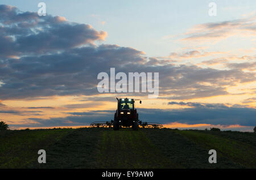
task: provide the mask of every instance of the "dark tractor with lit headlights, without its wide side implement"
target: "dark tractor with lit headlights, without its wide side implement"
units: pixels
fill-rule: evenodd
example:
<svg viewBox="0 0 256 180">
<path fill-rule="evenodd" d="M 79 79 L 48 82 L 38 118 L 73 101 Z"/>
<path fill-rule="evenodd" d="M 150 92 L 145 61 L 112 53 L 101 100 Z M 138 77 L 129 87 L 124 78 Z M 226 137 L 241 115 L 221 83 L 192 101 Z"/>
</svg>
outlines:
<svg viewBox="0 0 256 180">
<path fill-rule="evenodd" d="M 117 98 L 117 110 L 115 111 L 113 128 L 119 130 L 121 127 L 132 127 L 133 130 L 139 128 L 139 114 L 135 109 L 133 98 Z M 141 101 L 139 101 L 141 104 Z"/>
</svg>

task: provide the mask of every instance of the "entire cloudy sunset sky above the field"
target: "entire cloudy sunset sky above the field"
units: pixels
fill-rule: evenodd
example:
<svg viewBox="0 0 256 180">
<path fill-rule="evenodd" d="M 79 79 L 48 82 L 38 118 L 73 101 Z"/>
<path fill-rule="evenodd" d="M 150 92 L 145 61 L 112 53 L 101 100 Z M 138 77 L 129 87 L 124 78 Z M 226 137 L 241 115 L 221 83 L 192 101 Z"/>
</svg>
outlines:
<svg viewBox="0 0 256 180">
<path fill-rule="evenodd" d="M 255 1 L 0 1 L 0 119 L 12 129 L 142 121 L 253 131 Z M 214 2 L 216 16 L 210 16 Z M 159 96 L 99 93 L 100 72 L 159 72 Z"/>
</svg>

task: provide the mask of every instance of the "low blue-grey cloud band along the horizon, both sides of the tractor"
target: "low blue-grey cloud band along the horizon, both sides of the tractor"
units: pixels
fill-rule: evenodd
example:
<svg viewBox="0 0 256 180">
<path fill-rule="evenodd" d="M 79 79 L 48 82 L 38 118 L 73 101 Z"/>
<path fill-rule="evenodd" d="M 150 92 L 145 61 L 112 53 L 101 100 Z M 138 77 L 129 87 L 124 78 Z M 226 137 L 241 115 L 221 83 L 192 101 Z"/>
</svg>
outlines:
<svg viewBox="0 0 256 180">
<path fill-rule="evenodd" d="M 172 122 L 210 125 L 255 126 L 256 109 L 252 108 L 214 108 L 197 107 L 184 109 L 138 109 L 139 119 L 143 122 Z M 87 126 L 94 121 L 110 121 L 115 110 L 98 110 L 88 112 L 70 112 L 67 117 L 60 118 L 29 118 L 28 123 L 12 124 L 12 127 L 52 127 L 52 126 Z"/>
</svg>

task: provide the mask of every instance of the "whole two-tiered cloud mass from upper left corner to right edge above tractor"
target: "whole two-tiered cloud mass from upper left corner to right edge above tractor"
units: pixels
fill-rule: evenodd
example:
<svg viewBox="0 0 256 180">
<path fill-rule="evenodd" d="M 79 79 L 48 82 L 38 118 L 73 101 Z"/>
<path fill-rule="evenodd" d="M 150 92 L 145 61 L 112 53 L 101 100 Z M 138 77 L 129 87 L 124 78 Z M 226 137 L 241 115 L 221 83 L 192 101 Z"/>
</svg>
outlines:
<svg viewBox="0 0 256 180">
<path fill-rule="evenodd" d="M 133 48 L 92 45 L 106 33 L 59 16 L 38 16 L 6 5 L 0 10 L 1 100 L 98 95 L 97 75 L 110 74 L 110 67 L 116 73 L 159 72 L 159 95 L 170 100 L 227 95 L 225 86 L 256 80 L 254 72 L 239 68 L 176 66 L 171 60 L 145 57 Z M 185 54 L 189 55 L 202 54 Z"/>
</svg>

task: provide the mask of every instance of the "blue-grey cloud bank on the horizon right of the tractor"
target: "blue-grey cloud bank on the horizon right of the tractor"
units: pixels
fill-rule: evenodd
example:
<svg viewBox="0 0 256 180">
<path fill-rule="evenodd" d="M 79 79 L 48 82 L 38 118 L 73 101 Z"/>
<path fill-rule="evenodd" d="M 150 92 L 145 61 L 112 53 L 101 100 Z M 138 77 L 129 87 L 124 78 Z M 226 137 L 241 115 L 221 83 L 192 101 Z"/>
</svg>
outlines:
<svg viewBox="0 0 256 180">
<path fill-rule="evenodd" d="M 160 123 L 255 126 L 253 108 L 184 108 L 173 110 L 139 109 L 140 119 Z"/>
</svg>

